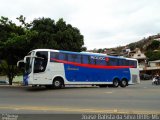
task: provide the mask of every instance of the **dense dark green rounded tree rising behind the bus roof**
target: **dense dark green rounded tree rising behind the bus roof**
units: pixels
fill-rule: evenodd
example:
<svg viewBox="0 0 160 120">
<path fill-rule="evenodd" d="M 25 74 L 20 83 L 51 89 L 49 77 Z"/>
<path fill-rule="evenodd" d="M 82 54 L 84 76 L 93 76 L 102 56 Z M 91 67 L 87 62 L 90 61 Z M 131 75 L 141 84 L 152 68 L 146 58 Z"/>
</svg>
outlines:
<svg viewBox="0 0 160 120">
<path fill-rule="evenodd" d="M 66 24 L 63 19 L 56 23 L 50 18 L 39 18 L 32 22 L 31 30 L 38 32 L 35 48 L 51 48 L 69 51 L 82 51 L 83 35 L 80 31 Z"/>
</svg>

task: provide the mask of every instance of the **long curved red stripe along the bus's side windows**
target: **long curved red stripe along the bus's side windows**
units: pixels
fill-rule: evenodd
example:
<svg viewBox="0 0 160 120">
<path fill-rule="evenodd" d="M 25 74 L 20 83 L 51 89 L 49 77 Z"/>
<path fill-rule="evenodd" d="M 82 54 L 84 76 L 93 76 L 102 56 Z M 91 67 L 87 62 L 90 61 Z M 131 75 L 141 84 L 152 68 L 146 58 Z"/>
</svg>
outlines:
<svg viewBox="0 0 160 120">
<path fill-rule="evenodd" d="M 104 66 L 104 65 L 92 65 L 92 64 L 81 64 L 77 62 L 69 62 L 65 60 L 58 60 L 51 58 L 51 60 L 54 60 L 59 63 L 64 63 L 64 64 L 70 64 L 70 65 L 75 65 L 75 66 L 81 66 L 81 67 L 87 67 L 87 68 L 99 68 L 99 69 L 121 69 L 121 68 L 134 68 L 134 66 Z"/>
</svg>

